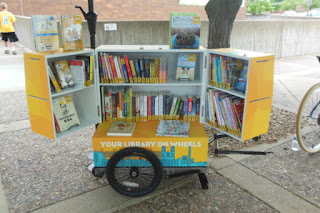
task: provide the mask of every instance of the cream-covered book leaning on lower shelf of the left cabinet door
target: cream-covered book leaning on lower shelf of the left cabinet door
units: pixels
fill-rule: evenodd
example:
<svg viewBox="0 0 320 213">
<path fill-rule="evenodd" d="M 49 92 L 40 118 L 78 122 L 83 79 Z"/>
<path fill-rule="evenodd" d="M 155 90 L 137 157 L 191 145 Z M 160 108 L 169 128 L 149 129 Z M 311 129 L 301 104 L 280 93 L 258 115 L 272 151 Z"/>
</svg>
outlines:
<svg viewBox="0 0 320 213">
<path fill-rule="evenodd" d="M 80 125 L 80 120 L 70 95 L 52 99 L 52 107 L 61 132 Z"/>
</svg>

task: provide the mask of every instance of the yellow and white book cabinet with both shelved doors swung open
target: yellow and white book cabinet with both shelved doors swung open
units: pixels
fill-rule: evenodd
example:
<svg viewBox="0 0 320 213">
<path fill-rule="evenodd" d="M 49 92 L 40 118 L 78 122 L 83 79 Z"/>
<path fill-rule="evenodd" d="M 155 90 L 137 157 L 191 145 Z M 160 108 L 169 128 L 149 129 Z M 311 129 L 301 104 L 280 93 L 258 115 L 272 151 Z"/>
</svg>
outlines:
<svg viewBox="0 0 320 213">
<path fill-rule="evenodd" d="M 99 77 L 98 55 L 109 53 L 115 56 L 127 55 L 128 58 L 167 57 L 167 83 L 102 83 Z M 179 53 L 196 55 L 194 81 L 175 79 L 177 58 Z M 211 55 L 228 56 L 242 60 L 248 66 L 245 93 L 229 90 L 224 85 L 216 85 L 209 80 Z M 50 78 L 47 66 L 58 60 L 71 60 L 76 56 L 93 56 L 94 82 L 91 86 L 75 86 L 63 89 L 59 93 L 50 89 Z M 51 139 L 57 139 L 81 130 L 90 125 L 103 122 L 104 113 L 101 103 L 101 88 L 132 88 L 133 92 L 169 91 L 177 96 L 200 97 L 199 122 L 212 125 L 219 131 L 244 141 L 267 133 L 272 104 L 274 56 L 270 54 L 242 51 L 237 49 L 169 49 L 168 46 L 146 45 L 102 45 L 95 50 L 72 52 L 25 53 L 26 95 L 32 131 Z M 206 92 L 208 89 L 225 92 L 244 99 L 243 125 L 240 132 L 235 133 L 208 122 L 206 114 Z M 103 89 L 104 90 L 104 89 Z M 71 95 L 80 119 L 80 126 L 57 133 L 53 119 L 52 99 Z M 148 122 L 148 121 L 145 121 Z"/>
</svg>

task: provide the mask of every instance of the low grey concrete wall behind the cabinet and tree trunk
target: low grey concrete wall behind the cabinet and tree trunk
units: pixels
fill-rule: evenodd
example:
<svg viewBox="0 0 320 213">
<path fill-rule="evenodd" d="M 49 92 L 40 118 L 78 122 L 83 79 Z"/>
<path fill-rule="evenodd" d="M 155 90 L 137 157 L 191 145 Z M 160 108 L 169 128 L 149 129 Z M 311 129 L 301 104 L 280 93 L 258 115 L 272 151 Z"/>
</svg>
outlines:
<svg viewBox="0 0 320 213">
<path fill-rule="evenodd" d="M 113 21 L 116 31 L 104 31 L 105 21 L 97 23 L 96 46 L 99 45 L 168 45 L 168 21 Z M 110 23 L 110 22 L 109 22 Z M 29 17 L 18 17 L 19 42 L 34 49 Z M 277 58 L 319 53 L 320 19 L 235 21 L 231 47 L 275 54 Z M 90 47 L 89 31 L 83 22 L 85 47 Z M 207 47 L 208 21 L 201 21 L 200 45 Z"/>
</svg>

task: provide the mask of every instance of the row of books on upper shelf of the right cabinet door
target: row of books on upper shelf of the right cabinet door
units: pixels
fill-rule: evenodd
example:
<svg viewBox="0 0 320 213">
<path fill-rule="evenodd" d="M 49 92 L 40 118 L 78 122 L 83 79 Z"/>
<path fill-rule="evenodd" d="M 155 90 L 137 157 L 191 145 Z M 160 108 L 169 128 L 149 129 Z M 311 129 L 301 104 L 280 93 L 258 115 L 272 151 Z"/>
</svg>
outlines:
<svg viewBox="0 0 320 213">
<path fill-rule="evenodd" d="M 245 93 L 248 66 L 241 59 L 211 54 L 210 85 Z"/>
</svg>

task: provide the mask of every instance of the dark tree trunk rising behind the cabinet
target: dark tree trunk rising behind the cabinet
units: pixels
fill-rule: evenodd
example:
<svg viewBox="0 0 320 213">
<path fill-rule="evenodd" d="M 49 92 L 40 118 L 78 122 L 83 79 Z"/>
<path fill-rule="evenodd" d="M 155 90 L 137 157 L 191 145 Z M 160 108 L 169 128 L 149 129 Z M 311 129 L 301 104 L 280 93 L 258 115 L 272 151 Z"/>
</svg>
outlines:
<svg viewBox="0 0 320 213">
<path fill-rule="evenodd" d="M 208 49 L 230 47 L 234 19 L 242 0 L 209 0 L 205 6 L 209 18 Z"/>
</svg>

